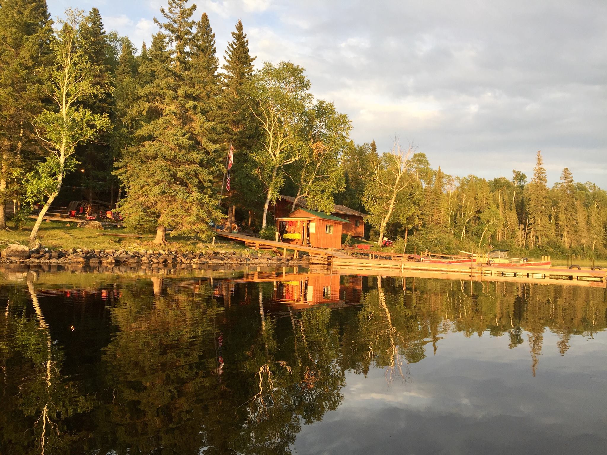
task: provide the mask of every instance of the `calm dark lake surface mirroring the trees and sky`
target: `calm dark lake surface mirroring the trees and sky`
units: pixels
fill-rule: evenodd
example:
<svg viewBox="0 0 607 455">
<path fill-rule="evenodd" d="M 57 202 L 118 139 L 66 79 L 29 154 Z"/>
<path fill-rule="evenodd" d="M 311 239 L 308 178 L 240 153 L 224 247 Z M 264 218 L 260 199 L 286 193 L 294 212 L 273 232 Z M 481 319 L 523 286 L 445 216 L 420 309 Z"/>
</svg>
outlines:
<svg viewBox="0 0 607 455">
<path fill-rule="evenodd" d="M 604 454 L 607 292 L 0 269 L 0 454 Z"/>
</svg>

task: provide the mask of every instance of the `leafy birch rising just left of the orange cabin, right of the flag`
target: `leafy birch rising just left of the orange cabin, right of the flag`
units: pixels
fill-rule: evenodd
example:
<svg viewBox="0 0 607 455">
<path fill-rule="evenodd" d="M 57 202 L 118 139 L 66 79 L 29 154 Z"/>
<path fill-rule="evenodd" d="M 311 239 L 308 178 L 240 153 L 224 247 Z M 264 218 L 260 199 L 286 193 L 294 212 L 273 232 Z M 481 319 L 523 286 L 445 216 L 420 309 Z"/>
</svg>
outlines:
<svg viewBox="0 0 607 455">
<path fill-rule="evenodd" d="M 254 174 L 265 187 L 262 229 L 268 207 L 279 195 L 285 181 L 284 167 L 302 157 L 300 130 L 310 109 L 310 80 L 304 68 L 291 62 L 274 66 L 265 62 L 255 75 L 249 107 L 262 130 L 260 146 L 254 153 Z"/>
</svg>

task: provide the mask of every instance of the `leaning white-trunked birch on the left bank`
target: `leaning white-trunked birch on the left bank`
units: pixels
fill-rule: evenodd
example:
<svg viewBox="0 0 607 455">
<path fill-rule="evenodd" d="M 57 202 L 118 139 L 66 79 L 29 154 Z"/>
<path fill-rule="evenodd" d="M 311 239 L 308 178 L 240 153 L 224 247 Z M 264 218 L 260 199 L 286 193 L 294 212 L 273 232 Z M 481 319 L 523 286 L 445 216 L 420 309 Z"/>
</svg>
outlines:
<svg viewBox="0 0 607 455">
<path fill-rule="evenodd" d="M 46 197 L 44 206 L 30 234 L 30 246 L 38 244 L 38 229 L 53 203 L 63 178 L 74 169 L 73 154 L 78 144 L 91 141 L 109 127 L 107 114 L 93 114 L 81 106 L 82 101 L 100 95 L 109 88 L 95 84 L 98 69 L 90 63 L 79 32 L 84 20 L 80 10 L 67 10 L 66 21 L 59 21 L 51 43 L 55 64 L 49 69 L 46 95 L 54 109 L 46 109 L 34 121 L 35 135 L 47 150 L 46 159 L 27 175 L 30 201 Z"/>
</svg>

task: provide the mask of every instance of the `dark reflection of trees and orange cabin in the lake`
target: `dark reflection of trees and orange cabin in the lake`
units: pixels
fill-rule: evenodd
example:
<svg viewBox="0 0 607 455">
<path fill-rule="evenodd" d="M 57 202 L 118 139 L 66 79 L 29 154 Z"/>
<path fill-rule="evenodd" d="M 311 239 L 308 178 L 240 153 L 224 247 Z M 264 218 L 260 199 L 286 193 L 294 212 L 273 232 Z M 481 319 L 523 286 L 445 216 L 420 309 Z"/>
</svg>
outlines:
<svg viewBox="0 0 607 455">
<path fill-rule="evenodd" d="M 408 365 L 461 332 L 526 340 L 535 375 L 546 332 L 565 355 L 606 325 L 595 288 L 76 275 L 2 275 L 0 453 L 290 453 L 302 424 L 338 408 L 346 372 L 406 383 Z"/>
</svg>

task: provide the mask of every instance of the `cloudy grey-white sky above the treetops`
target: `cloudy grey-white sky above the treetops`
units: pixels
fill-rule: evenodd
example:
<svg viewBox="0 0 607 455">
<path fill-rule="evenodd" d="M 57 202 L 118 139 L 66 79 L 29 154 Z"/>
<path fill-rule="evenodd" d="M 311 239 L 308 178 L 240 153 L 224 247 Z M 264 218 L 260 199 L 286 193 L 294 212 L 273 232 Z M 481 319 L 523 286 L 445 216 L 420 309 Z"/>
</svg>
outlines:
<svg viewBox="0 0 607 455">
<path fill-rule="evenodd" d="M 447 174 L 532 175 L 569 167 L 607 188 L 605 0 L 192 0 L 223 56 L 240 18 L 251 53 L 304 66 L 317 98 L 350 116 L 357 143 L 413 142 Z M 136 44 L 163 0 L 48 0 L 97 6 Z"/>
</svg>

